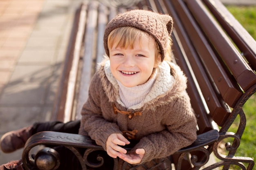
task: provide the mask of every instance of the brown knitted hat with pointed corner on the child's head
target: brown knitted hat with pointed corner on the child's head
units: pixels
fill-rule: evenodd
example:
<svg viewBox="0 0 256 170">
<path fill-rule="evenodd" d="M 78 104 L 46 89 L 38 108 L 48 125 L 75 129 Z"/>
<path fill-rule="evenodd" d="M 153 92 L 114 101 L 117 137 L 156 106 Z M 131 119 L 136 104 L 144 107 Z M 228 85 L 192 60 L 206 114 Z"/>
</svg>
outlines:
<svg viewBox="0 0 256 170">
<path fill-rule="evenodd" d="M 162 55 L 161 60 L 164 60 L 168 37 L 173 29 L 173 19 L 171 16 L 138 9 L 115 16 L 106 26 L 103 39 L 104 48 L 108 56 L 108 35 L 114 29 L 122 26 L 132 26 L 153 36 L 159 44 L 160 54 Z"/>
</svg>

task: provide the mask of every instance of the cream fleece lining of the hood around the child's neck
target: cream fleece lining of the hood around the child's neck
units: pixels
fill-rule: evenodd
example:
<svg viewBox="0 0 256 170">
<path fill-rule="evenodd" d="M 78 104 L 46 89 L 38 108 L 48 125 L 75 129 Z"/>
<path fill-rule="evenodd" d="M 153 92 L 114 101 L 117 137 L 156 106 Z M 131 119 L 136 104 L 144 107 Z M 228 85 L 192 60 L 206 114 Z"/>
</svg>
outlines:
<svg viewBox="0 0 256 170">
<path fill-rule="evenodd" d="M 114 88 L 119 89 L 119 85 L 117 79 L 112 75 L 110 71 L 110 61 L 106 61 L 104 65 L 104 71 L 106 73 L 106 77 L 110 81 L 110 83 L 114 86 Z M 147 102 L 157 98 L 160 95 L 164 95 L 168 92 L 169 89 L 173 86 L 173 82 L 175 81 L 174 77 L 171 75 L 171 68 L 169 64 L 165 61 L 159 64 L 158 74 L 155 79 L 155 83 L 153 84 L 151 90 L 148 92 L 148 95 L 144 98 L 142 102 L 139 104 L 130 106 L 128 109 L 138 109 L 144 106 Z M 118 93 L 119 94 L 119 93 Z M 117 102 L 125 107 L 124 103 L 121 102 L 121 98 L 117 96 Z"/>
</svg>

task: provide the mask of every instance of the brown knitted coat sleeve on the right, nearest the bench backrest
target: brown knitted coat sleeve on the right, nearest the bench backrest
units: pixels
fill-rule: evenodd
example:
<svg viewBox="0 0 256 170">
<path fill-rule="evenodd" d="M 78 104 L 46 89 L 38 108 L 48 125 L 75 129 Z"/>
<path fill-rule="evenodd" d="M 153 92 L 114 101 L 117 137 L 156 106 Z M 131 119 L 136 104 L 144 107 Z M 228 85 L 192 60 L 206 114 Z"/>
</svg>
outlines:
<svg viewBox="0 0 256 170">
<path fill-rule="evenodd" d="M 196 118 L 191 109 L 190 99 L 185 94 L 173 102 L 167 117 L 163 117 L 166 130 L 141 138 L 132 149 L 144 148 L 146 153 L 141 160 L 145 163 L 152 159 L 172 155 L 177 150 L 189 146 L 196 139 Z M 140 163 L 140 164 L 141 164 Z"/>
</svg>

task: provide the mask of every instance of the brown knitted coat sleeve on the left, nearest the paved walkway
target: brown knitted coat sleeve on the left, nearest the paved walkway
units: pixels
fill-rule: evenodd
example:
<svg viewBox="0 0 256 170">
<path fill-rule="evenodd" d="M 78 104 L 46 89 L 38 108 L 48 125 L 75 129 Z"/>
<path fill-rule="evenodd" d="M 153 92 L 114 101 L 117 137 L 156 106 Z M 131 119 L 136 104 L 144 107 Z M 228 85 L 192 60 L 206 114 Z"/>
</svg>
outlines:
<svg viewBox="0 0 256 170">
<path fill-rule="evenodd" d="M 112 133 L 121 133 L 116 123 L 104 119 L 101 108 L 101 80 L 97 73 L 92 77 L 88 99 L 81 110 L 81 127 L 79 134 L 89 135 L 96 144 L 106 150 L 106 141 Z"/>
</svg>

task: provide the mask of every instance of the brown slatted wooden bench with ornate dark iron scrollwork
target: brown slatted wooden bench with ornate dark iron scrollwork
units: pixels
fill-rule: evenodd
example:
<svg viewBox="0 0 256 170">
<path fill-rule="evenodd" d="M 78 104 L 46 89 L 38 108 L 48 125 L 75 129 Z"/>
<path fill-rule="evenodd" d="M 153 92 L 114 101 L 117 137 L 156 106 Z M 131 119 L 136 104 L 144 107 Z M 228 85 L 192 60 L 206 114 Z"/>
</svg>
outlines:
<svg viewBox="0 0 256 170">
<path fill-rule="evenodd" d="M 103 33 L 106 24 L 117 13 L 128 9 L 148 9 L 168 13 L 174 19 L 173 54 L 188 77 L 187 92 L 198 118 L 198 138 L 175 155 L 163 159 L 175 164 L 176 170 L 204 170 L 237 166 L 252 170 L 254 161 L 236 155 L 246 125 L 242 106 L 256 92 L 256 42 L 219 0 L 115 0 L 86 1 L 78 9 L 70 39 L 62 86 L 56 100 L 54 117 L 61 121 L 79 119 L 81 105 L 86 101 L 90 78 L 96 63 L 104 54 Z M 119 2 L 119 4 L 117 4 Z M 107 4 L 109 3 L 109 4 Z M 115 4 L 112 6 L 110 4 Z M 240 122 L 229 132 L 236 117 Z M 225 143 L 226 152 L 218 149 Z M 90 137 L 60 132 L 40 132 L 26 143 L 22 160 L 27 170 L 54 170 L 61 163 L 54 150 L 29 153 L 38 145 L 65 146 L 79 159 L 83 170 L 97 168 L 101 156 L 88 161 L 91 152 L 103 150 Z M 87 150 L 81 153 L 81 149 Z M 127 148 L 129 149 L 129 148 Z M 208 165 L 210 155 L 218 160 Z M 117 169 L 118 159 L 113 159 Z M 184 163 L 186 161 L 186 163 Z M 162 162 L 156 163 L 156 167 Z M 189 166 L 187 165 L 189 163 Z M 132 165 L 126 164 L 127 167 Z M 207 167 L 206 167 L 207 166 Z M 145 168 L 145 167 L 144 167 Z M 146 169 L 146 168 L 145 168 Z"/>
</svg>

